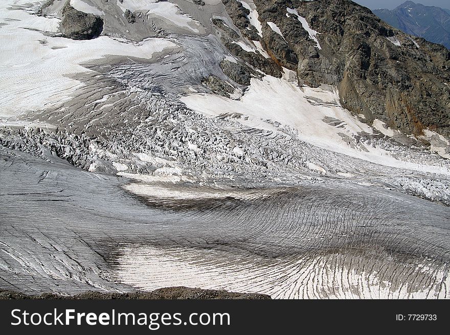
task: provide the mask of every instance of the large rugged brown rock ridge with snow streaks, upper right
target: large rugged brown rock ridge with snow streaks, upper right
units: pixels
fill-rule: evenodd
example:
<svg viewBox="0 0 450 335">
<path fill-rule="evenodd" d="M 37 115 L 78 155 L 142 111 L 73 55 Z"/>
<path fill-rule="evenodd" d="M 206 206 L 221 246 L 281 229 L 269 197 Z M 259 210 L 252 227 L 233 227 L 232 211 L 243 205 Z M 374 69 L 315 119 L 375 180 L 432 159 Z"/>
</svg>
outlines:
<svg viewBox="0 0 450 335">
<path fill-rule="evenodd" d="M 249 31 L 245 8 L 234 3 L 224 1 L 234 24 L 242 32 Z M 262 25 L 262 45 L 278 65 L 297 71 L 300 84 L 338 86 L 342 104 L 363 114 L 369 124 L 379 119 L 408 134 L 421 135 L 424 128 L 450 134 L 447 49 L 421 38 L 416 38 L 417 47 L 413 37 L 348 0 L 254 3 Z M 322 50 L 295 15 L 286 15 L 286 8 L 297 9 L 309 27 L 319 32 Z M 275 23 L 283 37 L 267 22 Z M 226 46 L 241 57 L 242 51 Z M 255 61 L 245 61 L 271 74 Z"/>
</svg>

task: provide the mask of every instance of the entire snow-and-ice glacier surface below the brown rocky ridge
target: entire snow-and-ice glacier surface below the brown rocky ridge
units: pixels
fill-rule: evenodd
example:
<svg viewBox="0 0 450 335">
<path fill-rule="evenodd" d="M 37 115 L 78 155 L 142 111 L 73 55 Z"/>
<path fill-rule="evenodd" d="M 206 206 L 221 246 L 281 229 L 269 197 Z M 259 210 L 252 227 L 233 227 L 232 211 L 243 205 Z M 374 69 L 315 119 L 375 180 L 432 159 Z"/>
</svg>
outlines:
<svg viewBox="0 0 450 335">
<path fill-rule="evenodd" d="M 369 126 L 287 69 L 231 81 L 220 2 L 72 0 L 105 19 L 91 40 L 58 34 L 62 3 L 0 4 L 0 288 L 450 296 L 446 138 Z"/>
</svg>

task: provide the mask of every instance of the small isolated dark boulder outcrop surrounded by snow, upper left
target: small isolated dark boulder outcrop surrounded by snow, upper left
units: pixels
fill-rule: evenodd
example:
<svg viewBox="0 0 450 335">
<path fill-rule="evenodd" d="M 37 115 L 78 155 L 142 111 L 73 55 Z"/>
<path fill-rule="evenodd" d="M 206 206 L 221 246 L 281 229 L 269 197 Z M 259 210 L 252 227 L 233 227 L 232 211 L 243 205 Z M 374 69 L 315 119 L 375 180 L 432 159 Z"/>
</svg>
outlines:
<svg viewBox="0 0 450 335">
<path fill-rule="evenodd" d="M 64 37 L 92 39 L 100 36 L 103 30 L 103 19 L 100 16 L 76 10 L 68 1 L 62 10 L 59 29 Z"/>
</svg>

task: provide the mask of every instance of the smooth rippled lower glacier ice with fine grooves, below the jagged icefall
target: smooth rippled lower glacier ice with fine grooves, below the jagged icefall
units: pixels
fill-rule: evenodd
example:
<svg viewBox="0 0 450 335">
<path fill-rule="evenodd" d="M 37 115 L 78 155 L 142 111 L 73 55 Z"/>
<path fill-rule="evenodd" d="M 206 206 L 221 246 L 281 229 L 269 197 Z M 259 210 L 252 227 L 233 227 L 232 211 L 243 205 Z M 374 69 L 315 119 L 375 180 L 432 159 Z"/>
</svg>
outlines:
<svg viewBox="0 0 450 335">
<path fill-rule="evenodd" d="M 3 288 L 448 298 L 448 207 L 342 181 L 136 196 L 120 177 L 49 161 L 2 150 Z"/>
</svg>

